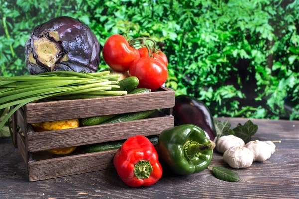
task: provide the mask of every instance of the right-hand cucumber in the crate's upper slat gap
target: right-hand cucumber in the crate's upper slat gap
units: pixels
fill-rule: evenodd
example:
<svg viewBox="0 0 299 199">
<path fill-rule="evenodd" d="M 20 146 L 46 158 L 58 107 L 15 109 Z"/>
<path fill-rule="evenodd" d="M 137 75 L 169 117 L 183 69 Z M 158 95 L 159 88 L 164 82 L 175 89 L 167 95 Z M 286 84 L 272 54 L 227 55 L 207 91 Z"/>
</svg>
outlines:
<svg viewBox="0 0 299 199">
<path fill-rule="evenodd" d="M 144 119 L 154 113 L 156 110 L 148 110 L 142 112 L 133 112 L 133 113 L 126 113 L 116 116 L 108 121 L 103 122 L 102 124 L 113 124 L 118 122 L 125 122 L 125 121 L 134 121 L 138 119 Z"/>
</svg>

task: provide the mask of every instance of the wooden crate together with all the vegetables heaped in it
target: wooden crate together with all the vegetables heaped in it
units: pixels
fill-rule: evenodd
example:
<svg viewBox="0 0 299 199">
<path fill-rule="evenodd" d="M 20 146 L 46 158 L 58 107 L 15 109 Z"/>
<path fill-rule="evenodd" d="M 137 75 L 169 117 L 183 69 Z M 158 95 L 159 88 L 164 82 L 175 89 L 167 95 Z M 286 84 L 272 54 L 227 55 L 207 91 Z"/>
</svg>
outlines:
<svg viewBox="0 0 299 199">
<path fill-rule="evenodd" d="M 175 91 L 161 87 L 168 60 L 150 38 L 112 35 L 103 46 L 111 69 L 96 72 L 95 35 L 62 16 L 36 26 L 25 52 L 31 75 L 0 77 L 0 113 L 8 112 L 0 130 L 12 116 L 13 141 L 30 181 L 112 167 L 127 138 L 174 125 Z"/>
</svg>

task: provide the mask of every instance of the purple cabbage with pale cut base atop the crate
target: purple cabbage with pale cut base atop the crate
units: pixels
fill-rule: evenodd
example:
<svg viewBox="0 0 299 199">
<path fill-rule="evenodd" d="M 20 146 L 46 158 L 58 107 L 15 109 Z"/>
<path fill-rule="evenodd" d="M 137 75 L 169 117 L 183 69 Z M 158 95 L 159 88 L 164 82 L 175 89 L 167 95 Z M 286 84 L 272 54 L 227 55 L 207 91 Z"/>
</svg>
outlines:
<svg viewBox="0 0 299 199">
<path fill-rule="evenodd" d="M 38 25 L 25 45 L 31 74 L 49 71 L 96 72 L 100 44 L 91 29 L 77 19 L 62 16 Z"/>
</svg>

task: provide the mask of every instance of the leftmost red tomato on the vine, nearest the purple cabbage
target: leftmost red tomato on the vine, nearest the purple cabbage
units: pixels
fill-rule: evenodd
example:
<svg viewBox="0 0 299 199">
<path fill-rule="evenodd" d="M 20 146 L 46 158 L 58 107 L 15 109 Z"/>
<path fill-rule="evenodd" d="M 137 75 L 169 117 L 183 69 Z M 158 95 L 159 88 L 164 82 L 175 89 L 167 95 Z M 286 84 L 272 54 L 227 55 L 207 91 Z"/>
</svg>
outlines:
<svg viewBox="0 0 299 199">
<path fill-rule="evenodd" d="M 103 47 L 103 59 L 115 71 L 128 71 L 132 62 L 139 57 L 138 50 L 119 34 L 110 36 Z"/>
</svg>

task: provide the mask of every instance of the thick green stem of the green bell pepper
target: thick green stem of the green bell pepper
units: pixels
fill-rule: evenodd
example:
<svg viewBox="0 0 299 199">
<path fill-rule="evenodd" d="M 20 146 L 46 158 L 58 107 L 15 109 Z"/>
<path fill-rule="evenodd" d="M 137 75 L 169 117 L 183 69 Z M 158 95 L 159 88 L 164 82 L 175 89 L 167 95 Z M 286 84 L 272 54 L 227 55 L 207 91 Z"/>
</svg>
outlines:
<svg viewBox="0 0 299 199">
<path fill-rule="evenodd" d="M 189 141 L 184 146 L 185 155 L 189 160 L 194 160 L 195 158 L 197 158 L 200 152 L 204 152 L 212 149 L 213 149 L 213 145 L 211 144 L 210 141 L 203 144 L 199 144 L 198 142 L 195 141 Z"/>
</svg>

